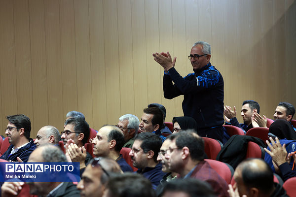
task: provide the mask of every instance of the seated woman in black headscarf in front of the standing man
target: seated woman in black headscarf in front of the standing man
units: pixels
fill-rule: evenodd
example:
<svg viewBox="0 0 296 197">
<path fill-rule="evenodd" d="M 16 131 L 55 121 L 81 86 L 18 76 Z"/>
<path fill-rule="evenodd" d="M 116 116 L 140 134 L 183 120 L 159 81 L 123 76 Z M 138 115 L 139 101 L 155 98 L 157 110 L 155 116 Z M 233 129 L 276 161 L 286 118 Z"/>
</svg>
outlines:
<svg viewBox="0 0 296 197">
<path fill-rule="evenodd" d="M 173 118 L 173 133 L 177 133 L 181 130 L 194 130 L 198 131 L 198 126 L 196 121 L 188 116 L 180 116 L 180 117 L 174 117 Z"/>
</svg>

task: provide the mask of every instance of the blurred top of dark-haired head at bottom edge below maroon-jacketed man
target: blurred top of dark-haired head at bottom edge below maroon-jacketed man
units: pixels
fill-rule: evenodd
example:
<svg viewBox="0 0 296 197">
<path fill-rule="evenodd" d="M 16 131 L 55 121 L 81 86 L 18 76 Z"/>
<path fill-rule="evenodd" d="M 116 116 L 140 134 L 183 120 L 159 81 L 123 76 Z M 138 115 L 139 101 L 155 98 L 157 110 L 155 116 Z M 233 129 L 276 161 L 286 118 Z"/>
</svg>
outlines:
<svg viewBox="0 0 296 197">
<path fill-rule="evenodd" d="M 162 197 L 217 197 L 212 187 L 198 179 L 178 179 L 170 181 L 163 190 Z"/>
</svg>

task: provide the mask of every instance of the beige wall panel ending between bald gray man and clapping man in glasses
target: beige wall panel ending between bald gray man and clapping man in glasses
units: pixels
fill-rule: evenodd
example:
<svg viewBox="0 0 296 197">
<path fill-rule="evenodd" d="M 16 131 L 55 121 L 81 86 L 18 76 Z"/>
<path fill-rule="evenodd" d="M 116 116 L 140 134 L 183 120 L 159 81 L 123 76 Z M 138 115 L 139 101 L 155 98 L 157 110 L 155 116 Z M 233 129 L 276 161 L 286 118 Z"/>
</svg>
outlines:
<svg viewBox="0 0 296 197">
<path fill-rule="evenodd" d="M 44 0 L 45 42 L 48 92 L 48 124 L 62 131 L 63 84 L 61 63 L 60 11 L 59 0 Z"/>
</svg>

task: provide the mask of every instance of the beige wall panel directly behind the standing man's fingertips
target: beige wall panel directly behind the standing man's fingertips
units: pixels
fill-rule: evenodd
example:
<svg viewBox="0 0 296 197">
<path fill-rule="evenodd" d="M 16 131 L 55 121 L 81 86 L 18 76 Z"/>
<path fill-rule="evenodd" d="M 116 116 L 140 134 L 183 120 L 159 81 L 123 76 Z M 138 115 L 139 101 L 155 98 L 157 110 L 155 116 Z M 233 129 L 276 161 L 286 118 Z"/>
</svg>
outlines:
<svg viewBox="0 0 296 197">
<path fill-rule="evenodd" d="M 146 25 L 146 55 L 147 55 L 147 91 L 148 103 L 161 102 L 161 72 L 160 68 L 152 57 L 152 53 L 159 51 L 159 17 L 157 0 L 145 0 L 145 25 Z M 147 106 L 146 104 L 146 106 Z M 146 107 L 146 106 L 143 106 Z"/>
</svg>

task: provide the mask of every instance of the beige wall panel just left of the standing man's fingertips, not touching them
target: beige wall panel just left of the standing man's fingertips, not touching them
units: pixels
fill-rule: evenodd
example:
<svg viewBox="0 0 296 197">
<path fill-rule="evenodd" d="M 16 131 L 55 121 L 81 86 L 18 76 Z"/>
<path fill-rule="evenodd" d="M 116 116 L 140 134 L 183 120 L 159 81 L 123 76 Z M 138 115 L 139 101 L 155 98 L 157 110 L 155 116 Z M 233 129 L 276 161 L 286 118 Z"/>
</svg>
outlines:
<svg viewBox="0 0 296 197">
<path fill-rule="evenodd" d="M 134 95 L 135 114 L 139 119 L 143 109 L 147 107 L 147 57 L 145 32 L 145 3 L 144 0 L 131 0 L 132 12 L 132 41 L 134 63 Z M 157 67 L 157 66 L 156 66 Z"/>
</svg>

